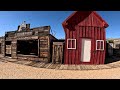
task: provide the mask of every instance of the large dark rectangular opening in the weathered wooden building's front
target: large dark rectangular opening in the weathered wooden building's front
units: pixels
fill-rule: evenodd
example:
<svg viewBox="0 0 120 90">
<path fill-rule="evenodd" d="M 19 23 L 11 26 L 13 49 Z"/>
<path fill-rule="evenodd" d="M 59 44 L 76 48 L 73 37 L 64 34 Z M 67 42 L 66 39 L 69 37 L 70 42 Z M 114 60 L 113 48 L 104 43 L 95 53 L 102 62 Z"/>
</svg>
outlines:
<svg viewBox="0 0 120 90">
<path fill-rule="evenodd" d="M 38 40 L 18 40 L 17 54 L 38 56 Z"/>
</svg>

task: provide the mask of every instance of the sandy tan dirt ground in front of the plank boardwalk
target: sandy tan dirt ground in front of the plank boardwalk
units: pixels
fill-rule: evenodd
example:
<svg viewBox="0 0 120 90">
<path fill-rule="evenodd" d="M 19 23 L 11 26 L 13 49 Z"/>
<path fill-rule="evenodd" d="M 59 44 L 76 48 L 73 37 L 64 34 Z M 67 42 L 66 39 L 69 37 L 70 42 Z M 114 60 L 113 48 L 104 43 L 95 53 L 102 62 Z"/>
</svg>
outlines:
<svg viewBox="0 0 120 90">
<path fill-rule="evenodd" d="M 120 68 L 55 70 L 0 62 L 0 79 L 120 79 Z"/>
</svg>

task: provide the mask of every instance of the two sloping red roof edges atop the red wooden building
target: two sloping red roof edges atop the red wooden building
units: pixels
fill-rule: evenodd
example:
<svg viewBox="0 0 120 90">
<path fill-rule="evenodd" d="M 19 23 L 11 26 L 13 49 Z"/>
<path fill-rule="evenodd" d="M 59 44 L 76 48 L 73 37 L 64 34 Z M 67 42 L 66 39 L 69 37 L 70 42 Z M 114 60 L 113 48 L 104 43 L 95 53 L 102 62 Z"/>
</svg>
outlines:
<svg viewBox="0 0 120 90">
<path fill-rule="evenodd" d="M 66 26 L 67 25 L 67 21 L 72 18 L 76 13 L 78 12 L 82 12 L 82 11 L 74 11 L 63 23 L 62 25 L 63 26 Z M 91 11 L 91 13 L 94 13 L 94 15 L 96 15 L 104 24 L 104 27 L 108 27 L 109 25 L 107 24 L 107 22 L 105 20 L 102 19 L 102 17 L 100 15 L 98 15 L 95 11 Z"/>
</svg>

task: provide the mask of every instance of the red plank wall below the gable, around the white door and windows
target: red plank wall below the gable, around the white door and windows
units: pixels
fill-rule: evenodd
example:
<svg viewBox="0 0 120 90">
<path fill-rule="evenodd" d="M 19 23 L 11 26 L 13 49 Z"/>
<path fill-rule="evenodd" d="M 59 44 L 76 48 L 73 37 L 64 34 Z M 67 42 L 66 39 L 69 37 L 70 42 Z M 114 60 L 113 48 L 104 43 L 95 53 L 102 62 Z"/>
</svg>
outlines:
<svg viewBox="0 0 120 90">
<path fill-rule="evenodd" d="M 65 64 L 104 64 L 105 47 L 104 51 L 96 51 L 96 40 L 104 40 L 105 43 L 105 30 L 100 27 L 81 27 L 78 26 L 77 30 L 67 30 L 67 38 L 76 39 L 76 49 L 67 49 L 67 38 L 65 39 Z M 91 62 L 83 63 L 81 61 L 81 40 L 82 38 L 91 39 Z M 104 44 L 105 46 L 105 44 Z"/>
</svg>

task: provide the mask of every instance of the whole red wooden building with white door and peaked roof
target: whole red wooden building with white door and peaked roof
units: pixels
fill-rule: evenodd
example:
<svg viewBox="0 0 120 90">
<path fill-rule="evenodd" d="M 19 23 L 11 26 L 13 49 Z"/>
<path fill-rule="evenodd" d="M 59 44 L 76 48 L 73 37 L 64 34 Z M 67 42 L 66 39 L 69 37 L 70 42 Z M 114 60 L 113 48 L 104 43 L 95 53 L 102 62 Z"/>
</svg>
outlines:
<svg viewBox="0 0 120 90">
<path fill-rule="evenodd" d="M 95 11 L 75 11 L 63 23 L 64 64 L 104 64 L 108 24 Z"/>
</svg>

